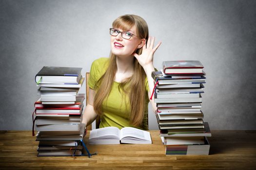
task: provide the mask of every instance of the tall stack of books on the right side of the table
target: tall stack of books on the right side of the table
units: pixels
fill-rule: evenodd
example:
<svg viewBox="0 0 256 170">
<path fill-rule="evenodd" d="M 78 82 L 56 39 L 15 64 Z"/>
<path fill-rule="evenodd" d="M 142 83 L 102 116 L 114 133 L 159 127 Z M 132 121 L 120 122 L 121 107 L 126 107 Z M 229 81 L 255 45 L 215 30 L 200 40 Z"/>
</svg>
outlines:
<svg viewBox="0 0 256 170">
<path fill-rule="evenodd" d="M 152 72 L 157 120 L 166 154 L 209 154 L 211 136 L 201 102 L 205 72 L 199 61 L 164 61 Z"/>
</svg>

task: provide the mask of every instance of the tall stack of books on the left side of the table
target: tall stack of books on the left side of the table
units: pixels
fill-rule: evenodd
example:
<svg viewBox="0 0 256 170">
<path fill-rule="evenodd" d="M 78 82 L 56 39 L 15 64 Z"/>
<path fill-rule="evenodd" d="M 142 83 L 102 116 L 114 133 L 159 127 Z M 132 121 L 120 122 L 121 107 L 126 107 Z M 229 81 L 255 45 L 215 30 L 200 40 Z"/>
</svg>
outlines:
<svg viewBox="0 0 256 170">
<path fill-rule="evenodd" d="M 43 67 L 35 77 L 40 98 L 35 102 L 38 156 L 82 155 L 84 94 L 78 94 L 82 68 Z M 34 133 L 34 124 L 33 124 Z"/>
</svg>

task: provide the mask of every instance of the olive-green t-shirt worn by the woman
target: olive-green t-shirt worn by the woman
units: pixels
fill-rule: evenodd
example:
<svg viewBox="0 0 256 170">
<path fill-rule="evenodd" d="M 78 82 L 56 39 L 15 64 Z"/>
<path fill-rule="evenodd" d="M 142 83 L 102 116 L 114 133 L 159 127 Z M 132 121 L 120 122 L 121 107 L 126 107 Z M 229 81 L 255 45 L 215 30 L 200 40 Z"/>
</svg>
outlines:
<svg viewBox="0 0 256 170">
<path fill-rule="evenodd" d="M 108 67 L 109 58 L 99 58 L 92 63 L 90 70 L 90 78 L 88 85 L 90 88 L 95 90 L 95 85 L 99 78 L 105 73 Z M 99 128 L 115 126 L 119 129 L 123 127 L 135 127 L 138 129 L 148 130 L 147 125 L 147 114 L 148 114 L 148 81 L 145 80 L 145 110 L 142 125 L 140 127 L 133 126 L 130 124 L 131 106 L 129 102 L 129 96 L 126 95 L 122 90 L 118 90 L 118 82 L 114 82 L 110 91 L 109 97 L 106 98 L 102 103 L 102 115 L 100 116 Z"/>
</svg>

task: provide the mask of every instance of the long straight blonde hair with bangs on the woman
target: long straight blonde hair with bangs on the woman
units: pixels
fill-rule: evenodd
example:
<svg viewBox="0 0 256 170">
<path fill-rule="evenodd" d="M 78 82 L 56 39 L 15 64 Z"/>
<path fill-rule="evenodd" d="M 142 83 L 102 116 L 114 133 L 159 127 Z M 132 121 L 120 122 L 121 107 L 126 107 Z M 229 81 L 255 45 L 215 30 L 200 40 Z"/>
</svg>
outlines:
<svg viewBox="0 0 256 170">
<path fill-rule="evenodd" d="M 119 28 L 122 30 L 129 30 L 134 25 L 136 26 L 137 36 L 139 38 L 148 39 L 148 26 L 146 21 L 136 15 L 124 15 L 118 17 L 113 22 L 114 28 Z M 142 48 L 135 51 L 141 54 Z M 115 75 L 117 72 L 117 56 L 110 52 L 109 66 L 106 72 L 96 83 L 96 95 L 94 97 L 94 110 L 98 115 L 102 114 L 101 106 L 105 98 L 108 97 L 112 85 L 115 81 Z M 133 76 L 122 81 L 118 88 L 123 90 L 125 94 L 129 94 L 129 101 L 131 105 L 130 123 L 135 126 L 140 126 L 144 116 L 144 103 L 145 103 L 145 78 L 146 73 L 141 65 L 138 63 L 137 59 L 134 57 L 134 74 Z M 126 88 L 129 86 L 129 92 Z"/>
</svg>

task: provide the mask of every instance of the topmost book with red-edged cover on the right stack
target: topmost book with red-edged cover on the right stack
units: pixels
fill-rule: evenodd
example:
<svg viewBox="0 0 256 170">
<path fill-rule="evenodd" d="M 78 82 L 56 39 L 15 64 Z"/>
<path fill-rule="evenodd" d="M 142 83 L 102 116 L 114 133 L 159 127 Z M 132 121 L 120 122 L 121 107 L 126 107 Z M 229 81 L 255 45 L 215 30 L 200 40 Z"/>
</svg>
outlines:
<svg viewBox="0 0 256 170">
<path fill-rule="evenodd" d="M 203 74 L 200 61 L 164 61 L 162 67 L 165 74 Z"/>
</svg>

